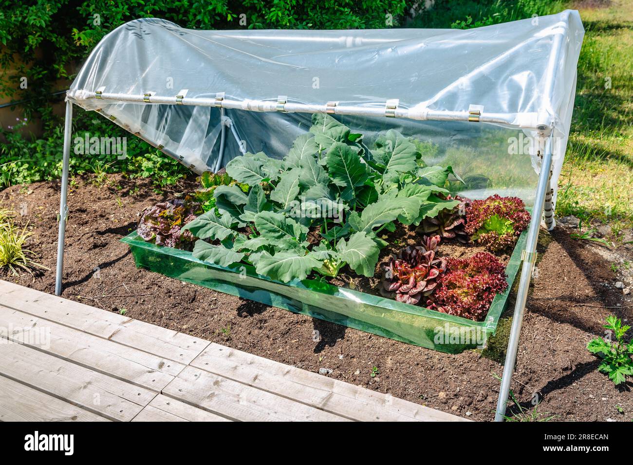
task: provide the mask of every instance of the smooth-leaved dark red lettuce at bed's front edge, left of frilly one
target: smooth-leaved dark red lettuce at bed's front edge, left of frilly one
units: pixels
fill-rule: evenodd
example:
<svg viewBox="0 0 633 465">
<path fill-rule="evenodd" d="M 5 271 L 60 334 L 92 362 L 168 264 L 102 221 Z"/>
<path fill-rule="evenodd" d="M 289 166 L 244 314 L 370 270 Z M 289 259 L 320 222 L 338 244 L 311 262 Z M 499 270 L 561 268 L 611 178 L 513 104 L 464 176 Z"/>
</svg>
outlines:
<svg viewBox="0 0 633 465">
<path fill-rule="evenodd" d="M 437 239 L 436 239 L 437 238 Z M 417 304 L 422 297 L 430 295 L 437 286 L 437 278 L 446 270 L 446 259 L 436 259 L 439 237 L 426 238 L 426 247 L 404 247 L 398 256 L 392 257 L 383 268 L 382 288 L 384 294 L 398 302 Z"/>
</svg>

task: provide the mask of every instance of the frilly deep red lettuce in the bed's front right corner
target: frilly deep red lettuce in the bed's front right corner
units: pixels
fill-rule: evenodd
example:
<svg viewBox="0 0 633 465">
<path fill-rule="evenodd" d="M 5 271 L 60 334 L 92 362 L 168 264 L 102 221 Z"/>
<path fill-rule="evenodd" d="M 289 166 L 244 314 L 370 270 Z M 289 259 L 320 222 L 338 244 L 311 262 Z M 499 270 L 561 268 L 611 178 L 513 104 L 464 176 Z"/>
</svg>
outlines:
<svg viewBox="0 0 633 465">
<path fill-rule="evenodd" d="M 506 287 L 505 268 L 494 255 L 479 252 L 467 259 L 450 258 L 427 307 L 481 321 L 494 295 Z"/>
</svg>

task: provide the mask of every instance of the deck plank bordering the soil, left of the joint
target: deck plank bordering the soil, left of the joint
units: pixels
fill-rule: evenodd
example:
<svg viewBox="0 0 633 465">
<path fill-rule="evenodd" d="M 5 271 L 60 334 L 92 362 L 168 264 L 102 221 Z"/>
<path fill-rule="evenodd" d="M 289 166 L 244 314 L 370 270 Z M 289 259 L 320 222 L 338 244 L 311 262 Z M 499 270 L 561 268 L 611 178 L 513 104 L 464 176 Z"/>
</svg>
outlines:
<svg viewBox="0 0 633 465">
<path fill-rule="evenodd" d="M 188 364 L 209 342 L 0 280 L 0 304 L 119 344 Z"/>
</svg>

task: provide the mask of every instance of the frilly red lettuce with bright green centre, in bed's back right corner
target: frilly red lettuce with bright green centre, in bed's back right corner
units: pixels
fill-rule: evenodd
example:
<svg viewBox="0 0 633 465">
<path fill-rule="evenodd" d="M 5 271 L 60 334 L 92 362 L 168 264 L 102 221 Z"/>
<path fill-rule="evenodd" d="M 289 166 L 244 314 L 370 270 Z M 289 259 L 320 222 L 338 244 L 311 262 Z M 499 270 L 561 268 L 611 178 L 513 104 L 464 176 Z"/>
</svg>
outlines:
<svg viewBox="0 0 633 465">
<path fill-rule="evenodd" d="M 493 252 L 513 247 L 530 224 L 530 214 L 518 197 L 491 195 L 466 209 L 466 232 L 474 242 Z"/>
</svg>

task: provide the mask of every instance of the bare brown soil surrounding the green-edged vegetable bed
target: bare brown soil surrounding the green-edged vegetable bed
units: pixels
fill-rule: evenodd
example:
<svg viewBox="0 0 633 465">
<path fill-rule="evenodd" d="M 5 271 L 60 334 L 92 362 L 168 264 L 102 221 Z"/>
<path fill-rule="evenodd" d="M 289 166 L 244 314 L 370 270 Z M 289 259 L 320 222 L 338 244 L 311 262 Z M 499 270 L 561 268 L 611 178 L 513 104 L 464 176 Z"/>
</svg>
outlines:
<svg viewBox="0 0 633 465">
<path fill-rule="evenodd" d="M 311 371 L 329 368 L 333 378 L 442 411 L 493 418 L 512 296 L 488 349 L 449 355 L 137 270 L 118 240 L 134 230 L 142 209 L 191 187 L 185 182 L 163 195 L 147 182 L 113 177 L 109 185 L 94 185 L 75 178 L 68 199 L 63 297 L 111 311 L 125 309 L 132 318 Z M 58 182 L 41 182 L 0 193 L 1 206 L 24 213 L 18 220 L 32 228 L 30 249 L 51 268 L 35 278 L 0 271 L 0 278 L 53 292 L 59 189 Z M 613 286 L 617 279 L 611 262 L 596 253 L 599 245 L 572 240 L 562 228 L 541 237 L 513 392 L 529 411 L 537 395 L 542 400 L 537 414 L 555 415 L 559 421 L 630 421 L 633 383 L 615 387 L 596 371 L 598 361 L 586 345 L 603 335 L 609 314 L 633 319 L 631 302 Z M 619 252 L 631 259 L 630 249 Z M 372 378 L 373 367 L 379 374 Z"/>
</svg>

